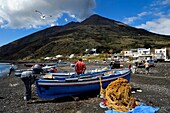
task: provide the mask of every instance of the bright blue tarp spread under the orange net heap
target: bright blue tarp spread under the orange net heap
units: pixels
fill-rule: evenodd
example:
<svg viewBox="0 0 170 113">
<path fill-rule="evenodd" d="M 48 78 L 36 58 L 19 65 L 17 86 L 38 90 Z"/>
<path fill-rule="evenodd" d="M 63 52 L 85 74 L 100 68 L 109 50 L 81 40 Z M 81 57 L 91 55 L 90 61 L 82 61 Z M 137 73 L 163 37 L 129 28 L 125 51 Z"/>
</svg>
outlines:
<svg viewBox="0 0 170 113">
<path fill-rule="evenodd" d="M 145 103 L 139 103 L 140 106 L 136 106 L 133 111 L 129 112 L 123 112 L 123 113 L 155 113 L 156 111 L 159 110 L 159 107 L 152 107 L 152 106 L 147 106 Z M 122 112 L 117 112 L 114 110 L 106 110 L 105 113 L 122 113 Z"/>
</svg>

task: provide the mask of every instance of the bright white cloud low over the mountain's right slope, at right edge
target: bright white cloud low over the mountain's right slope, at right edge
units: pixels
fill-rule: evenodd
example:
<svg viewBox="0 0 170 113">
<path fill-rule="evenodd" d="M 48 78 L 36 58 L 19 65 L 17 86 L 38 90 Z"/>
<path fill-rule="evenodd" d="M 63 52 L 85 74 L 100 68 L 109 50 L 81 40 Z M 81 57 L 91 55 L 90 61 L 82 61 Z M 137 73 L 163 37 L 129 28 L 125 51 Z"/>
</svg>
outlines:
<svg viewBox="0 0 170 113">
<path fill-rule="evenodd" d="M 137 26 L 158 34 L 170 35 L 170 18 L 159 18 L 154 21 L 147 21 L 145 24 Z"/>
</svg>

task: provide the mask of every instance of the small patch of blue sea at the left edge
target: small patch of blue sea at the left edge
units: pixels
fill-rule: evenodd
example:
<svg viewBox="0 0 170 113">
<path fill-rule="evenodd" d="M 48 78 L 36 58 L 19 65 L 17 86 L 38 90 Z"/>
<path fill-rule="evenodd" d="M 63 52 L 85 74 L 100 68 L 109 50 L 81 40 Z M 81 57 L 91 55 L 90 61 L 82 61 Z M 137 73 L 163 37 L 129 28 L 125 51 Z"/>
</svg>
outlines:
<svg viewBox="0 0 170 113">
<path fill-rule="evenodd" d="M 10 63 L 0 63 L 0 78 L 9 74 L 10 67 Z"/>
</svg>

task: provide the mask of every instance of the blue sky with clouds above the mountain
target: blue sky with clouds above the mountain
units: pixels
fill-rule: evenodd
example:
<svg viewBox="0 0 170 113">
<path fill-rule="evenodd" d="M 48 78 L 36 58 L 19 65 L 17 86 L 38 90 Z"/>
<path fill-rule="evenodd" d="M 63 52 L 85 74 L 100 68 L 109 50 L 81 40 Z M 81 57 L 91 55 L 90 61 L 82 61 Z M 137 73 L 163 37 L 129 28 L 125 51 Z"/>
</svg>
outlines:
<svg viewBox="0 0 170 113">
<path fill-rule="evenodd" d="M 0 0 L 0 46 L 93 14 L 170 35 L 170 0 Z"/>
</svg>

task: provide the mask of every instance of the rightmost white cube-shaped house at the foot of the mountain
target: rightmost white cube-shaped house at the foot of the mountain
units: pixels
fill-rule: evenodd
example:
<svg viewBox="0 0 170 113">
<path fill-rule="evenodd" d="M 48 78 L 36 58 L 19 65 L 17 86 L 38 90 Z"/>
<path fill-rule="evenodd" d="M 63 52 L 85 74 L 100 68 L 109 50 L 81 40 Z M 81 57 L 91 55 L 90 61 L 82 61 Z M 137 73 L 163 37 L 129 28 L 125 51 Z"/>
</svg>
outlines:
<svg viewBox="0 0 170 113">
<path fill-rule="evenodd" d="M 155 58 L 162 60 L 167 59 L 167 49 L 166 48 L 155 49 Z"/>
</svg>

